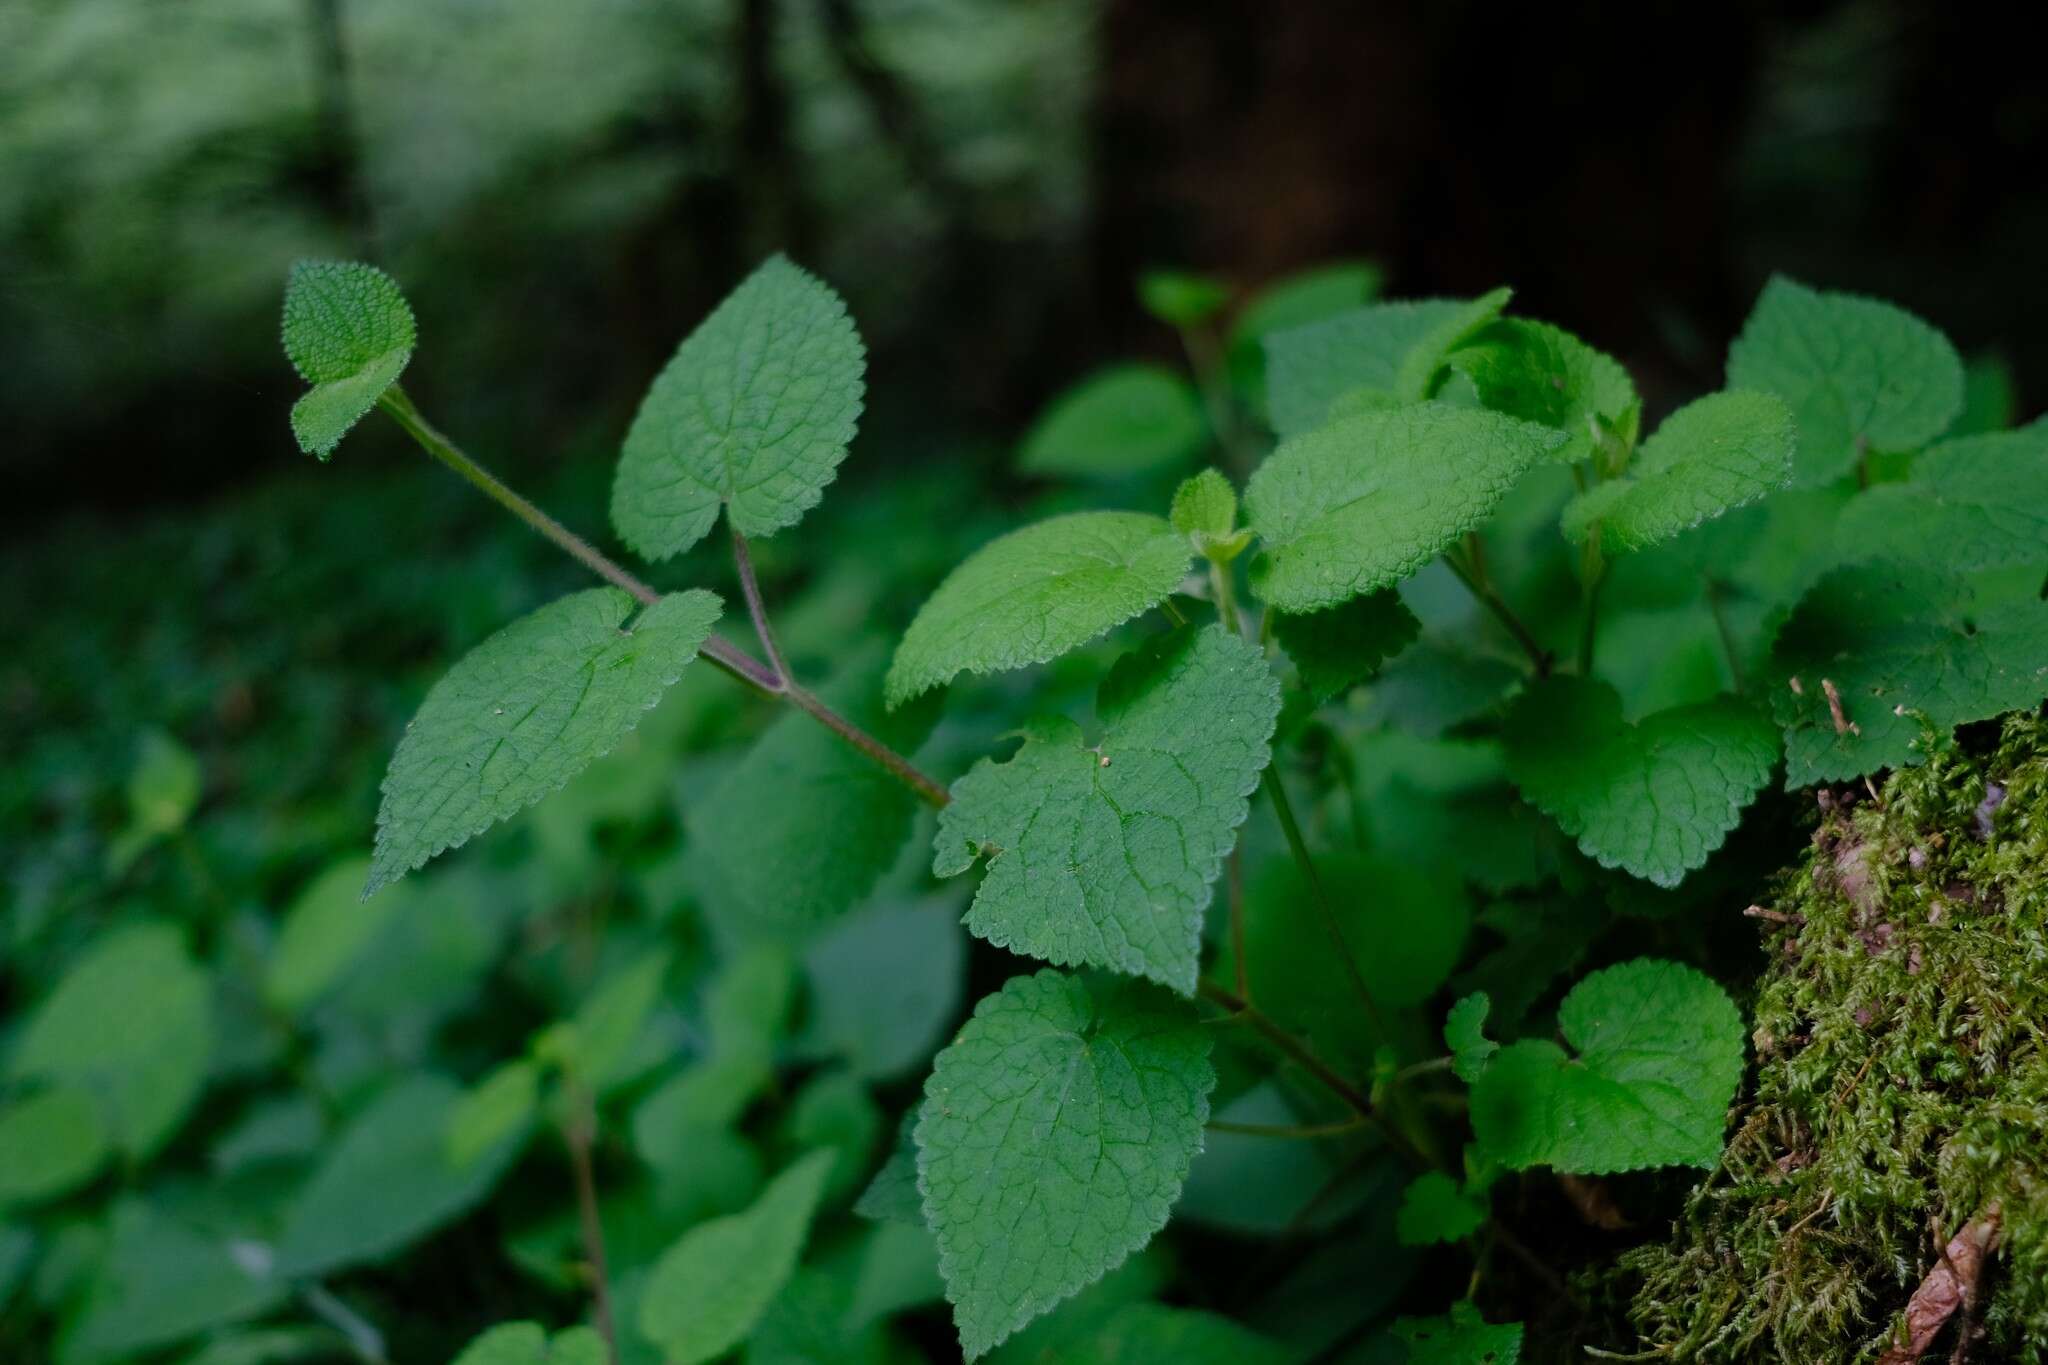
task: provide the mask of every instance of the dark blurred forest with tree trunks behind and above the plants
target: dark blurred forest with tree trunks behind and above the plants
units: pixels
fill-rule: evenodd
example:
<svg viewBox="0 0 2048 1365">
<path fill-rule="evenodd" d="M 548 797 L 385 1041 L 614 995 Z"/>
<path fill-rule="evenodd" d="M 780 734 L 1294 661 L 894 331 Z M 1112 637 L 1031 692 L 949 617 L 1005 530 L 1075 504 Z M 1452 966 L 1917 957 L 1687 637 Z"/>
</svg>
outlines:
<svg viewBox="0 0 2048 1365">
<path fill-rule="evenodd" d="M 2048 82 L 1995 6 L 8 8 L 16 544 L 301 477 L 274 319 L 309 254 L 401 276 L 408 385 L 528 475 L 614 448 L 676 340 L 776 248 L 874 348 L 870 467 L 1008 440 L 1104 356 L 1171 356 L 1130 293 L 1147 266 L 1251 289 L 1364 256 L 1393 295 L 1509 282 L 1653 407 L 1718 383 L 1772 270 L 2001 354 L 2021 415 L 2048 360 Z"/>
</svg>

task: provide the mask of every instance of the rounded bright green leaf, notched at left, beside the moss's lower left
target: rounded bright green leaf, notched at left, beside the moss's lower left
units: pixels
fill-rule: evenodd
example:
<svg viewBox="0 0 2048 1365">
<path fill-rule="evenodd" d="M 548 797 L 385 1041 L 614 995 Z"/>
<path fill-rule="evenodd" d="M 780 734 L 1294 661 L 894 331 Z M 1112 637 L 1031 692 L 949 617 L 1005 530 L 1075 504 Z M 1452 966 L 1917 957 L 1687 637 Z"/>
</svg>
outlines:
<svg viewBox="0 0 2048 1365">
<path fill-rule="evenodd" d="M 1550 1040 L 1501 1048 L 1473 1083 L 1473 1132 L 1491 1160 L 1581 1175 L 1712 1166 L 1743 1078 L 1743 1017 L 1712 978 L 1638 958 L 1565 997 Z"/>
</svg>

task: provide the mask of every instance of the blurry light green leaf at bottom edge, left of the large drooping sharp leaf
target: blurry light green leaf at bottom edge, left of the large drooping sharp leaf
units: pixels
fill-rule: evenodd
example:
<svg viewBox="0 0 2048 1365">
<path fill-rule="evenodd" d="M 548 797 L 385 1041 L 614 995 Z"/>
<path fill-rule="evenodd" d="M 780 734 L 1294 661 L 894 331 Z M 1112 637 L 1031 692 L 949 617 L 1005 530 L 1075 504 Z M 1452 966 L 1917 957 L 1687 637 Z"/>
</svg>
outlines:
<svg viewBox="0 0 2048 1365">
<path fill-rule="evenodd" d="M 696 1365 L 739 1345 L 797 1269 L 831 1152 L 784 1171 L 750 1207 L 682 1234 L 647 1277 L 639 1328 L 668 1365 Z"/>
</svg>

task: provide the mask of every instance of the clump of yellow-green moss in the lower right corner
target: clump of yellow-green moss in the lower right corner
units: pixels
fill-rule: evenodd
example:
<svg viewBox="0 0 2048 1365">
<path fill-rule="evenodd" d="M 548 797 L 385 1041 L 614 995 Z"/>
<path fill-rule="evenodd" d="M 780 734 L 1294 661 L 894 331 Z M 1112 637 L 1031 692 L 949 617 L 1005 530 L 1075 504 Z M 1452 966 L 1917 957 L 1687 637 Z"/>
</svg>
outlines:
<svg viewBox="0 0 2048 1365">
<path fill-rule="evenodd" d="M 1759 921 L 1755 1087 L 1671 1242 L 1624 1259 L 1630 1318 L 1659 1359 L 1872 1361 L 1997 1205 L 1970 1359 L 2044 1361 L 2048 724 L 1829 804 Z"/>
</svg>

